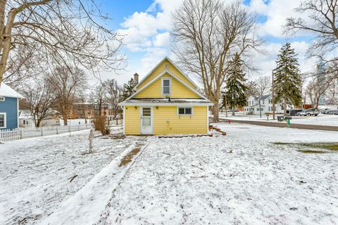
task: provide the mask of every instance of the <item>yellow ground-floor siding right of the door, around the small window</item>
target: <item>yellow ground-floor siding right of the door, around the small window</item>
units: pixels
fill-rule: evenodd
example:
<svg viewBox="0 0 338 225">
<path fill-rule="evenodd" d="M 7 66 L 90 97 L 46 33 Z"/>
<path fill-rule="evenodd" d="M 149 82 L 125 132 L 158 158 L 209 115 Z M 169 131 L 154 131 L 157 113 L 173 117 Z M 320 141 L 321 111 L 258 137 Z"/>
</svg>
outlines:
<svg viewBox="0 0 338 225">
<path fill-rule="evenodd" d="M 154 134 L 206 134 L 206 109 L 207 106 L 194 106 L 190 117 L 178 116 L 177 106 L 158 106 L 158 110 L 154 108 Z"/>
</svg>

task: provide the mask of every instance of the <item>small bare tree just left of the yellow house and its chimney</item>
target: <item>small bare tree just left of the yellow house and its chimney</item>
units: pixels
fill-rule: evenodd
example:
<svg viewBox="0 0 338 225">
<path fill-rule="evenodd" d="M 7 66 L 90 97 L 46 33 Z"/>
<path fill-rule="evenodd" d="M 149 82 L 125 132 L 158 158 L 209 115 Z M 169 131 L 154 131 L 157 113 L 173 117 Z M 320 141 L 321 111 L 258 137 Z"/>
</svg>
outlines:
<svg viewBox="0 0 338 225">
<path fill-rule="evenodd" d="M 107 94 L 107 102 L 111 105 L 113 117 L 117 120 L 119 106 L 118 103 L 123 101 L 123 87 L 118 85 L 115 79 L 107 79 L 104 82 Z"/>
</svg>

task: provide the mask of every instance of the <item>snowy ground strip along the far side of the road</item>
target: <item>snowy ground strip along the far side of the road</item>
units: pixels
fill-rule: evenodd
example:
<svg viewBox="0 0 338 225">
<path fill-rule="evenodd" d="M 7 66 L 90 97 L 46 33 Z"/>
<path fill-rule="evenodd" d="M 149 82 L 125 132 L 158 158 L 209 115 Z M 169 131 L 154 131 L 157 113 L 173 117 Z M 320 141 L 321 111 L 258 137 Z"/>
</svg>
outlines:
<svg viewBox="0 0 338 225">
<path fill-rule="evenodd" d="M 243 113 L 239 112 L 236 113 L 236 115 L 232 116 L 231 112 L 227 114 L 227 117 L 225 113 L 220 113 L 220 118 L 223 119 L 230 119 L 230 120 L 255 120 L 255 121 L 267 121 L 268 118 L 266 115 L 262 115 L 260 117 L 259 115 L 244 115 Z M 272 120 L 273 117 L 270 115 L 269 122 L 277 122 L 277 115 L 276 120 Z M 325 114 L 319 114 L 318 116 L 311 116 L 311 117 L 297 117 L 293 116 L 291 123 L 294 124 L 316 124 L 316 125 L 330 125 L 330 126 L 338 126 L 338 115 L 325 115 Z"/>
</svg>

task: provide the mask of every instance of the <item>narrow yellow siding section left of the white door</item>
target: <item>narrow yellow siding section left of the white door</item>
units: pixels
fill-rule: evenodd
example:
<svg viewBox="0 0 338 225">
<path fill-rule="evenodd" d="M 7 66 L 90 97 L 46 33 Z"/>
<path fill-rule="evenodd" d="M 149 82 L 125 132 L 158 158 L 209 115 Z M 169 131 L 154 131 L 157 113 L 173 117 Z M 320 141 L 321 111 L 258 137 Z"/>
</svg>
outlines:
<svg viewBox="0 0 338 225">
<path fill-rule="evenodd" d="M 134 105 L 125 106 L 125 134 L 139 135 L 139 106 L 135 110 Z"/>
</svg>

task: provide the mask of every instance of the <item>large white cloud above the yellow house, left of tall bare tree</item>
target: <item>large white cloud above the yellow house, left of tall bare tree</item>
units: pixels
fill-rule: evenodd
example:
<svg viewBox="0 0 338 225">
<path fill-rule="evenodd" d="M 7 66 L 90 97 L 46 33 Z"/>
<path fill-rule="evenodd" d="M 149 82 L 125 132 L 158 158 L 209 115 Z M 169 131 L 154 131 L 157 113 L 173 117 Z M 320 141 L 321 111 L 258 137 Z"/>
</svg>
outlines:
<svg viewBox="0 0 338 225">
<path fill-rule="evenodd" d="M 121 24 L 123 29 L 118 30 L 124 35 L 123 42 L 128 51 L 140 52 L 144 55 L 138 61 L 130 60 L 120 80 L 125 82 L 126 77 L 132 77 L 138 72 L 144 77 L 164 56 L 171 54 L 170 21 L 171 14 L 181 0 L 154 0 L 145 12 L 135 12 Z"/>
</svg>

